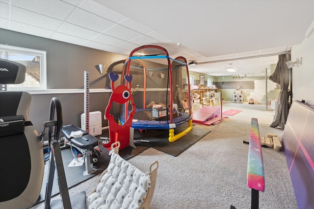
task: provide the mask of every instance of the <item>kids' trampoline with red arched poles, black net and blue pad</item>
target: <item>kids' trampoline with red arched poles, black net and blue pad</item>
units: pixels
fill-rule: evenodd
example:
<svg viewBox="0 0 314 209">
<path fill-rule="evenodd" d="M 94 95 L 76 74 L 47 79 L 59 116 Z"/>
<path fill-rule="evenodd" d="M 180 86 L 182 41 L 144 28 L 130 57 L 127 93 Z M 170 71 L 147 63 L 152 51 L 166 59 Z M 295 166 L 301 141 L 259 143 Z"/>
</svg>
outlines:
<svg viewBox="0 0 314 209">
<path fill-rule="evenodd" d="M 185 102 L 183 107 L 182 96 L 179 97 L 177 92 L 177 89 L 182 88 L 184 78 L 189 77 L 184 57 L 172 59 L 167 50 L 161 46 L 140 46 L 132 50 L 129 58 L 125 60 L 122 77 L 125 74 L 133 75 L 133 85 L 134 82 L 140 83 L 132 91 L 136 107 L 132 121 L 134 129 L 169 129 L 170 142 L 182 138 L 192 130 L 190 94 L 186 94 L 188 102 Z M 186 82 L 190 92 L 189 79 L 186 79 Z M 124 84 L 123 80 L 121 84 Z M 121 124 L 127 120 L 131 108 L 130 104 L 121 106 L 119 114 Z M 164 115 L 153 116 L 152 111 L 159 111 L 160 108 Z M 183 124 L 187 124 L 187 127 L 182 132 L 174 134 L 174 128 Z"/>
</svg>

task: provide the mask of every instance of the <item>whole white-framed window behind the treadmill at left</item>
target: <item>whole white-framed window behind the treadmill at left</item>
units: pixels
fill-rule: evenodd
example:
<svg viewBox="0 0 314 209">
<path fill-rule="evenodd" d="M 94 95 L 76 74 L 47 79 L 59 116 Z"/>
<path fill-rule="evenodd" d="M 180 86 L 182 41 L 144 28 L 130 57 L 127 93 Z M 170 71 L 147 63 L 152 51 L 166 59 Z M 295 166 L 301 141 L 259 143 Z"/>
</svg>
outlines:
<svg viewBox="0 0 314 209">
<path fill-rule="evenodd" d="M 0 45 L 0 58 L 15 61 L 26 66 L 24 83 L 8 84 L 8 90 L 46 90 L 46 51 Z"/>
</svg>

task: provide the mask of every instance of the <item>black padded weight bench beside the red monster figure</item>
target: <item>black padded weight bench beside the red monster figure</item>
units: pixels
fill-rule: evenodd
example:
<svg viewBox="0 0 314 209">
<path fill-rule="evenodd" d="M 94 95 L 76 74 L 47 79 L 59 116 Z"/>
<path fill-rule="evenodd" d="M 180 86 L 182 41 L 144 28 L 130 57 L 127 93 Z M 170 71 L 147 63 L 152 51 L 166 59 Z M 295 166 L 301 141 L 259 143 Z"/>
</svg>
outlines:
<svg viewBox="0 0 314 209">
<path fill-rule="evenodd" d="M 81 136 L 73 137 L 76 132 L 80 132 Z M 65 143 L 71 146 L 71 152 L 75 159 L 77 158 L 72 147 L 76 147 L 83 154 L 85 162 L 83 175 L 94 173 L 97 169 L 93 168 L 93 163 L 96 163 L 100 158 L 100 150 L 95 148 L 98 145 L 98 139 L 72 124 L 62 126 L 62 134 L 67 140 Z"/>
</svg>

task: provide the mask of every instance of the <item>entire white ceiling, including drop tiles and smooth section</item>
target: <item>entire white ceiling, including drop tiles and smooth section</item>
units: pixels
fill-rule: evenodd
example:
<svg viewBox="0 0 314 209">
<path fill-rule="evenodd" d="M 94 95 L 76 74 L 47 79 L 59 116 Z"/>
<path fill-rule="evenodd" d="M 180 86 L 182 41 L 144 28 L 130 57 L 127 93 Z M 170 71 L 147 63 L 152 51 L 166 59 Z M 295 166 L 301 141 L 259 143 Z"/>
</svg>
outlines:
<svg viewBox="0 0 314 209">
<path fill-rule="evenodd" d="M 313 0 L 0 0 L 0 27 L 126 56 L 158 45 L 191 71 L 262 76 L 306 38 L 313 11 Z"/>
</svg>

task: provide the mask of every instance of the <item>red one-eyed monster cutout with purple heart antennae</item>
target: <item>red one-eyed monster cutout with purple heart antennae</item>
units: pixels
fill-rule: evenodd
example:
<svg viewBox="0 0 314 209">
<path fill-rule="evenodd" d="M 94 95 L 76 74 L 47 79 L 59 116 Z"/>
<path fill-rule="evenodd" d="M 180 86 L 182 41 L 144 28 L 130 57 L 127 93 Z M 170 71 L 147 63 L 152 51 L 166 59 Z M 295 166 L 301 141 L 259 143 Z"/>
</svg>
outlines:
<svg viewBox="0 0 314 209">
<path fill-rule="evenodd" d="M 114 74 L 113 72 L 109 72 L 109 78 L 111 80 L 112 93 L 109 99 L 108 106 L 105 110 L 105 117 L 108 120 L 109 126 L 109 142 L 103 142 L 103 146 L 107 149 L 110 149 L 112 143 L 120 141 L 119 149 L 123 149 L 125 147 L 128 147 L 129 145 L 134 147 L 133 139 L 130 139 L 130 128 L 132 125 L 133 115 L 135 114 L 135 105 L 131 94 L 132 75 L 124 76 L 124 79 L 127 81 L 126 86 L 119 85 L 116 88 L 114 88 L 114 82 L 118 80 L 119 75 Z M 125 123 L 123 125 L 120 125 L 116 121 L 114 121 L 114 117 L 110 115 L 110 108 L 113 102 L 117 102 L 120 105 L 125 104 L 125 106 L 128 106 L 129 101 L 131 102 L 132 110 L 129 115 L 127 113 L 125 114 L 126 116 L 128 115 L 128 118 L 125 119 Z"/>
</svg>

